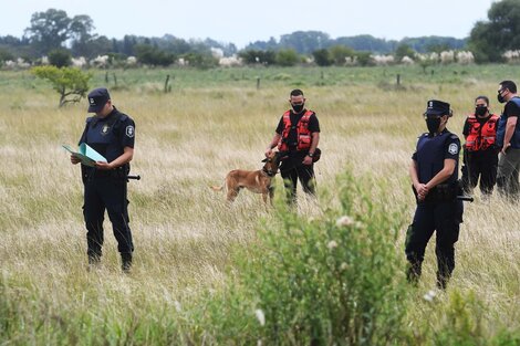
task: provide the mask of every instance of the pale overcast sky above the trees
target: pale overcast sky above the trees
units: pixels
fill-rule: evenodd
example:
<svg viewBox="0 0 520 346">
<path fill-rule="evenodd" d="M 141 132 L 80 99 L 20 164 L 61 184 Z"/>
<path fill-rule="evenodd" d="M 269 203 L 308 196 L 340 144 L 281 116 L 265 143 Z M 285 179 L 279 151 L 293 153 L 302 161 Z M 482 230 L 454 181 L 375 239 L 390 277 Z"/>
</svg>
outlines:
<svg viewBox="0 0 520 346">
<path fill-rule="evenodd" d="M 268 41 L 294 31 L 322 31 L 332 39 L 371 34 L 387 40 L 441 35 L 462 39 L 487 19 L 492 0 L 0 0 L 0 35 L 21 38 L 34 12 L 87 14 L 94 32 L 206 39 L 235 43 Z"/>
</svg>

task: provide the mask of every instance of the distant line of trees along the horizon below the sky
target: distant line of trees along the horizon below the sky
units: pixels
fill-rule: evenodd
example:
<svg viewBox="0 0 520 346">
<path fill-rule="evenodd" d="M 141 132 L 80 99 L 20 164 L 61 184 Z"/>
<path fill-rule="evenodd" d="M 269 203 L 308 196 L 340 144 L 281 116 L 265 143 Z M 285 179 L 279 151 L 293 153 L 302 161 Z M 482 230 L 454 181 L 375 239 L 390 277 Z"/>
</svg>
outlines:
<svg viewBox="0 0 520 346">
<path fill-rule="evenodd" d="M 41 56 L 84 56 L 94 59 L 108 55 L 112 60 L 136 56 L 149 65 L 170 65 L 179 57 L 191 65 L 211 67 L 215 56 L 239 55 L 247 63 L 280 64 L 298 61 L 298 55 L 312 56 L 322 65 L 334 63 L 337 56 L 355 56 L 361 64 L 371 54 L 405 55 L 448 50 L 469 50 L 476 62 L 501 62 L 506 51 L 520 50 L 520 0 L 493 2 L 488 20 L 479 21 L 469 38 L 446 36 L 405 38 L 401 41 L 377 39 L 372 35 L 331 39 L 321 31 L 297 31 L 281 35 L 280 40 L 256 41 L 238 51 L 233 43 L 211 39 L 184 40 L 171 34 L 162 38 L 125 35 L 108 39 L 94 33 L 94 22 L 85 14 L 70 18 L 65 11 L 49 9 L 35 12 L 22 38 L 0 36 L 0 64 L 22 57 L 34 62 Z M 217 54 L 216 54 L 217 52 Z M 61 61 L 60 60 L 60 61 Z M 320 63 L 319 63 L 320 64 Z"/>
</svg>

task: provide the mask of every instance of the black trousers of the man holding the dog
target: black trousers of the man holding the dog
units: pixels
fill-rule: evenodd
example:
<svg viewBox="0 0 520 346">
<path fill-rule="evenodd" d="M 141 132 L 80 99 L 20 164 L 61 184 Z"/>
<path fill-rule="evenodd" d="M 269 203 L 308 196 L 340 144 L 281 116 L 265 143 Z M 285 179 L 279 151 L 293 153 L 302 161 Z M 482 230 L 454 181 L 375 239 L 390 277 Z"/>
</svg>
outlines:
<svg viewBox="0 0 520 346">
<path fill-rule="evenodd" d="M 314 165 L 303 165 L 306 151 L 290 153 L 289 157 L 280 166 L 280 175 L 289 202 L 297 199 L 297 184 L 300 180 L 305 193 L 315 195 Z"/>
</svg>

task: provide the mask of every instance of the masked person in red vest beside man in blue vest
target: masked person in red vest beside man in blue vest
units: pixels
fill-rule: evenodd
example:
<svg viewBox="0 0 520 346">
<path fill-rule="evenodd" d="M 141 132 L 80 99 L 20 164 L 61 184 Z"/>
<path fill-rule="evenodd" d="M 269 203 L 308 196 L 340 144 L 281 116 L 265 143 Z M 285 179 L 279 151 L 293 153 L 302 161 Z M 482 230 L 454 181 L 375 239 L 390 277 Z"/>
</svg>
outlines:
<svg viewBox="0 0 520 346">
<path fill-rule="evenodd" d="M 475 113 L 464 123 L 462 188 L 471 193 L 480 177 L 480 192 L 489 197 L 497 182 L 498 151 L 496 145 L 498 115 L 489 112 L 489 98 L 475 98 Z"/>
</svg>

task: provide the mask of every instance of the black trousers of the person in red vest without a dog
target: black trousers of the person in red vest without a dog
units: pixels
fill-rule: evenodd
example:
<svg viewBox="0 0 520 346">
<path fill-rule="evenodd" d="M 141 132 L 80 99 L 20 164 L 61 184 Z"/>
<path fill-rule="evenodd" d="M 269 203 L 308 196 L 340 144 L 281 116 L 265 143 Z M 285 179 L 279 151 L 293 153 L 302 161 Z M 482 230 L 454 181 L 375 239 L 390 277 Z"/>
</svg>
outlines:
<svg viewBox="0 0 520 346">
<path fill-rule="evenodd" d="M 498 153 L 496 149 L 464 151 L 462 188 L 471 193 L 480 177 L 480 192 L 491 195 L 497 184 Z"/>
</svg>

